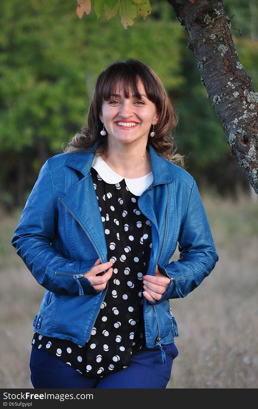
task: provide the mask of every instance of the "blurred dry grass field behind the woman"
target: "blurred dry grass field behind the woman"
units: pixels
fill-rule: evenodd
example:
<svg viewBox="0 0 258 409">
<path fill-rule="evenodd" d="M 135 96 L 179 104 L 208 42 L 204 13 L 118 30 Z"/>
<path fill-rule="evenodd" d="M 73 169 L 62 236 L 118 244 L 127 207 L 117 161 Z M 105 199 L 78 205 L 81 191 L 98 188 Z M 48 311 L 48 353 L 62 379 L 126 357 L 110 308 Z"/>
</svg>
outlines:
<svg viewBox="0 0 258 409">
<path fill-rule="evenodd" d="M 258 201 L 202 198 L 220 259 L 200 287 L 171 301 L 179 355 L 168 388 L 257 388 Z M 0 215 L 1 388 L 32 388 L 32 320 L 44 294 L 10 245 L 19 217 Z"/>
</svg>

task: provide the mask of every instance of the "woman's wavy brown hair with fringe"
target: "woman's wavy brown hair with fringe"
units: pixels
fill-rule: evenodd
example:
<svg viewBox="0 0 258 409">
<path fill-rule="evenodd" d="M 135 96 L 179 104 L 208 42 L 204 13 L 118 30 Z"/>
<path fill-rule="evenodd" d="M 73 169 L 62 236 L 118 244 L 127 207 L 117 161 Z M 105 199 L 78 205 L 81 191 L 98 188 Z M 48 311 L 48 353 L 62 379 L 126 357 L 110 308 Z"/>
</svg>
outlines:
<svg viewBox="0 0 258 409">
<path fill-rule="evenodd" d="M 183 156 L 176 153 L 177 149 L 171 134 L 175 130 L 177 116 L 168 94 L 157 74 L 148 65 L 134 59 L 116 61 L 99 74 L 87 112 L 87 126 L 76 133 L 64 151 L 90 148 L 99 139 L 98 152 L 100 155 L 103 154 L 107 149 L 108 141 L 106 136 L 100 135 L 103 127 L 99 119 L 102 103 L 108 101 L 118 83 L 123 84 L 126 98 L 129 97 L 130 89 L 137 98 L 140 98 L 137 88 L 139 79 L 144 85 L 148 99 L 155 103 L 159 115 L 159 122 L 155 125 L 155 136 L 150 137 L 149 135 L 148 142 L 159 155 L 183 166 Z"/>
</svg>

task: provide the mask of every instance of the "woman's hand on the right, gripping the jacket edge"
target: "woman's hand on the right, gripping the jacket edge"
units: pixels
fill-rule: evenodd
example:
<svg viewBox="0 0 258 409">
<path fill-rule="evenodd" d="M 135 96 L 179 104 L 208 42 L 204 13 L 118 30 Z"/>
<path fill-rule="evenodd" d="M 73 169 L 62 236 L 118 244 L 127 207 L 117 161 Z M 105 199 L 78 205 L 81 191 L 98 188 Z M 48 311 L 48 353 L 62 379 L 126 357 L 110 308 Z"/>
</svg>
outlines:
<svg viewBox="0 0 258 409">
<path fill-rule="evenodd" d="M 144 291 L 146 300 L 151 302 L 159 301 L 170 285 L 170 279 L 161 274 L 156 265 L 154 276 L 146 274 L 143 277 Z"/>
</svg>

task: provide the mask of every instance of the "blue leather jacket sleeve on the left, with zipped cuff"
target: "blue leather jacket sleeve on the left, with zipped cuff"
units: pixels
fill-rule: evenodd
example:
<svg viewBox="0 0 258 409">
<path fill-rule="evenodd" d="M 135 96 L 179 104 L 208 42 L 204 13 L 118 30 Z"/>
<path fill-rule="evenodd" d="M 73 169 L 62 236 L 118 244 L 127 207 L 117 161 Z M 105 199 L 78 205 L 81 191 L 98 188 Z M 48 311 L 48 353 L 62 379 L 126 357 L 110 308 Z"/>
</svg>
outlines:
<svg viewBox="0 0 258 409">
<path fill-rule="evenodd" d="M 38 283 L 47 290 L 60 295 L 99 293 L 88 279 L 80 277 L 92 268 L 96 259 L 70 260 L 52 246 L 57 224 L 54 184 L 47 161 L 22 211 L 11 244 Z"/>
</svg>

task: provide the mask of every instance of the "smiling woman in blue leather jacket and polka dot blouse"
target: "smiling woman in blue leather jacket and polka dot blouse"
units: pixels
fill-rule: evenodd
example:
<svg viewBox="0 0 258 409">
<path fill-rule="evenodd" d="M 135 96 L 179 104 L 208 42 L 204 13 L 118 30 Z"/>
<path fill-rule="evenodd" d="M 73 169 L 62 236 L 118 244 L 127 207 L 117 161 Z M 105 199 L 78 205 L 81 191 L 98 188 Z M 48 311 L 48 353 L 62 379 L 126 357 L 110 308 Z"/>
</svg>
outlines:
<svg viewBox="0 0 258 409">
<path fill-rule="evenodd" d="M 218 260 L 195 181 L 173 163 L 175 125 L 153 70 L 115 62 L 96 81 L 87 127 L 41 169 L 12 240 L 47 290 L 34 388 L 166 388 L 178 354 L 169 299 Z"/>
</svg>

